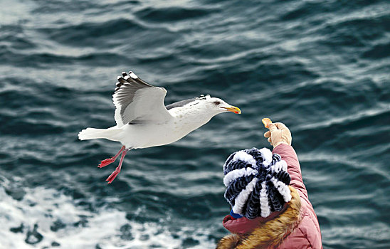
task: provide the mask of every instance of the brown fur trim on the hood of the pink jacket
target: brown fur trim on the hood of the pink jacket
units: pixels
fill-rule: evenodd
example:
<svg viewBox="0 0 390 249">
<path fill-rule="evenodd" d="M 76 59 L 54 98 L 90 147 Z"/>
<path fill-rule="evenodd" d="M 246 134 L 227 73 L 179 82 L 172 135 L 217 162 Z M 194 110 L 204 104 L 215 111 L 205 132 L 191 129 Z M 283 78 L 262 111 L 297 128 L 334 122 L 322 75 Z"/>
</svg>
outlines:
<svg viewBox="0 0 390 249">
<path fill-rule="evenodd" d="M 279 216 L 259 223 L 258 227 L 250 233 L 243 235 L 231 234 L 223 237 L 217 249 L 254 249 L 254 248 L 278 248 L 301 221 L 301 201 L 297 191 L 289 186 L 291 201 Z"/>
</svg>

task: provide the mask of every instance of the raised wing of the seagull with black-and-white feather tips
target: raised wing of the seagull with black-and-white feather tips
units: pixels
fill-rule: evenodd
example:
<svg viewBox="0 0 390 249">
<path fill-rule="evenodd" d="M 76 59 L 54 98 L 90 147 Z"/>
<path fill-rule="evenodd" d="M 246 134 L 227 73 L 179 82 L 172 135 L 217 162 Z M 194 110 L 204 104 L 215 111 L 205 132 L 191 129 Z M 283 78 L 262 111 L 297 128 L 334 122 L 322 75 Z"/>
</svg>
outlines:
<svg viewBox="0 0 390 249">
<path fill-rule="evenodd" d="M 123 72 L 112 95 L 117 126 L 166 122 L 172 118 L 164 106 L 166 94 L 167 90 L 149 85 L 132 71 L 128 75 Z"/>
</svg>

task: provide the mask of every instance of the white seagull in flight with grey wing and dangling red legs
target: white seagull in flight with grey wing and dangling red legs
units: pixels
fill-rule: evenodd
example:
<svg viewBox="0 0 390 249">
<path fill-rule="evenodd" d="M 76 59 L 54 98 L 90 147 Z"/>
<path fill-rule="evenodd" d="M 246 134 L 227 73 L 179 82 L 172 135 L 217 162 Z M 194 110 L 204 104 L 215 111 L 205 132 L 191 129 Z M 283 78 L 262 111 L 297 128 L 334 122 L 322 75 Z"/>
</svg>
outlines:
<svg viewBox="0 0 390 249">
<path fill-rule="evenodd" d="M 107 184 L 111 184 L 120 173 L 123 159 L 130 149 L 176 142 L 222 112 L 241 114 L 238 107 L 210 95 L 165 106 L 167 90 L 146 83 L 132 71 L 128 74 L 122 72 L 117 81 L 112 95 L 117 125 L 107 129 L 87 128 L 78 133 L 80 140 L 108 139 L 122 144 L 114 157 L 100 161 L 98 166 L 112 164 L 120 156 L 119 165 L 106 179 Z"/>
</svg>

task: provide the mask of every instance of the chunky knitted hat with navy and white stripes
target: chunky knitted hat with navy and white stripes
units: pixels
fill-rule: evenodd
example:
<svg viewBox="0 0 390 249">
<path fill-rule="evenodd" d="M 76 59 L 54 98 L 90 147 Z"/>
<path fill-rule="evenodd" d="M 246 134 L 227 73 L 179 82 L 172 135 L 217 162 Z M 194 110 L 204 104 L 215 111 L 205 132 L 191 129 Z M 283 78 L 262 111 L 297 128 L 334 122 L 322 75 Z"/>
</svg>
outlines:
<svg viewBox="0 0 390 249">
<path fill-rule="evenodd" d="M 223 165 L 223 174 L 226 201 L 246 218 L 268 217 L 291 200 L 287 164 L 269 149 L 234 152 Z"/>
</svg>

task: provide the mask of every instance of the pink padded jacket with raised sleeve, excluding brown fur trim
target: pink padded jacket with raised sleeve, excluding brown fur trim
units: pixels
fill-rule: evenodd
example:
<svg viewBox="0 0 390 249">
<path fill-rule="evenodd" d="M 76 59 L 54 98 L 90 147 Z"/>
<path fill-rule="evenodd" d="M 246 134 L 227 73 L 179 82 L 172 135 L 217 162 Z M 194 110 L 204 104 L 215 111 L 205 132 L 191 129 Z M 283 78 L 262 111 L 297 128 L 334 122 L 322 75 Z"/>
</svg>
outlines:
<svg viewBox="0 0 390 249">
<path fill-rule="evenodd" d="M 287 162 L 288 173 L 291 177 L 290 186 L 295 188 L 296 191 L 294 192 L 297 192 L 296 196 L 299 194 L 300 197 L 300 211 L 297 211 L 297 213 L 300 213 L 300 216 L 297 218 L 296 226 L 291 226 L 291 231 L 284 235 L 281 240 L 282 243 L 278 245 L 277 248 L 322 248 L 320 226 L 312 204 L 309 201 L 309 197 L 307 196 L 306 187 L 302 181 L 300 164 L 295 150 L 288 144 L 280 144 L 273 149 L 273 153 L 280 154 L 280 157 Z M 297 202 L 299 203 L 299 200 L 297 200 Z M 259 223 L 271 221 L 280 213 L 282 213 L 280 216 L 283 216 L 285 213 L 288 213 L 285 212 L 285 210 L 286 206 L 283 211 L 272 213 L 271 216 L 267 218 L 258 217 L 253 220 L 248 220 L 248 218 L 245 217 L 231 219 L 231 216 L 226 216 L 223 219 L 223 226 L 236 235 L 230 235 L 223 238 L 217 248 L 251 248 L 249 244 L 254 245 L 253 243 L 246 243 L 248 241 L 243 243 L 243 240 L 248 240 L 248 234 L 252 233 L 251 235 L 253 236 L 253 231 L 258 228 Z M 297 208 L 297 210 L 299 210 L 299 208 Z M 248 246 L 246 247 L 243 244 Z"/>
</svg>

